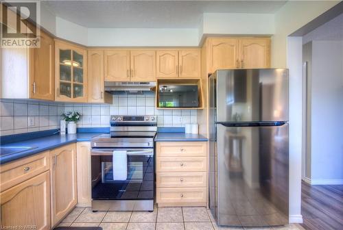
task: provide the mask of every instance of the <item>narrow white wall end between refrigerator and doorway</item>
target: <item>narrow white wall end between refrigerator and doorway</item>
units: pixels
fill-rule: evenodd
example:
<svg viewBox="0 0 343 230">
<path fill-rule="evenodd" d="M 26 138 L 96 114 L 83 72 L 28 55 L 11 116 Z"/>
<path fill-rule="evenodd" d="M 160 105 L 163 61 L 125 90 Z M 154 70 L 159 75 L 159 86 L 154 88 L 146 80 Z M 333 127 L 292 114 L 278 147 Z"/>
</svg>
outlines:
<svg viewBox="0 0 343 230">
<path fill-rule="evenodd" d="M 289 222 L 303 222 L 301 216 L 301 158 L 303 133 L 303 42 L 287 38 L 289 68 Z"/>
</svg>

